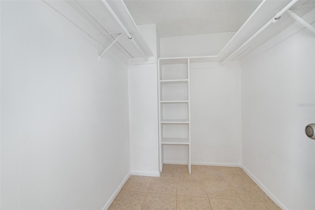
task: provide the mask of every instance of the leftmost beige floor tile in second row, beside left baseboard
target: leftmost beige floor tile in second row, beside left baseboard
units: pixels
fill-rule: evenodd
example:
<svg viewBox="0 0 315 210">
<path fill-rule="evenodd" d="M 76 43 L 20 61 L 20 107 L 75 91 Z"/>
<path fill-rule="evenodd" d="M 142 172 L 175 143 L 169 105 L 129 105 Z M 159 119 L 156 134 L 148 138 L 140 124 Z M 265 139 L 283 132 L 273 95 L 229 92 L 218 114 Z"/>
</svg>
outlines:
<svg viewBox="0 0 315 210">
<path fill-rule="evenodd" d="M 152 177 L 130 176 L 122 190 L 148 192 Z"/>
</svg>

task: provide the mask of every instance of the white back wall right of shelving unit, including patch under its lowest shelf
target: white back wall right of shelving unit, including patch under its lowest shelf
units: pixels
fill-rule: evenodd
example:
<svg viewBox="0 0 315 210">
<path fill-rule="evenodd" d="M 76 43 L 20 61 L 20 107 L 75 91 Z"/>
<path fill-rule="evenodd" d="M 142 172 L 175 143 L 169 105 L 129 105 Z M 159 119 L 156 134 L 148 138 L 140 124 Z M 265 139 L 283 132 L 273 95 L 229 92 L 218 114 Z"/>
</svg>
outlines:
<svg viewBox="0 0 315 210">
<path fill-rule="evenodd" d="M 190 69 L 191 162 L 238 165 L 240 67 Z M 187 163 L 187 146 L 164 146 L 164 163 Z"/>
</svg>

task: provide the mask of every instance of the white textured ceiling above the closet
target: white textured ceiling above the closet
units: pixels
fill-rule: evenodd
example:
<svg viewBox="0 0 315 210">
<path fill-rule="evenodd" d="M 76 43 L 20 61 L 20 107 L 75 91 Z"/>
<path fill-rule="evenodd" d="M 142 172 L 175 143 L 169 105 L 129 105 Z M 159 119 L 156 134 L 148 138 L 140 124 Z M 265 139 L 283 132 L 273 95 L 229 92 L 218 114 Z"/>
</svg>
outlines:
<svg viewBox="0 0 315 210">
<path fill-rule="evenodd" d="M 237 31 L 261 0 L 124 0 L 137 25 L 161 37 Z"/>
</svg>

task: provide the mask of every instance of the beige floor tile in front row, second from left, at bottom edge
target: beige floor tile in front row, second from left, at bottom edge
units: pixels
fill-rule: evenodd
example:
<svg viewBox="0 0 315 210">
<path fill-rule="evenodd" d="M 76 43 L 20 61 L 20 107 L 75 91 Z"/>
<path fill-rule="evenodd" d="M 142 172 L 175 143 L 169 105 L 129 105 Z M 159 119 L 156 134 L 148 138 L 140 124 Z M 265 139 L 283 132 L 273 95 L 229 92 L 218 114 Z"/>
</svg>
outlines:
<svg viewBox="0 0 315 210">
<path fill-rule="evenodd" d="M 175 210 L 176 195 L 148 193 L 144 201 L 143 210 Z"/>
</svg>

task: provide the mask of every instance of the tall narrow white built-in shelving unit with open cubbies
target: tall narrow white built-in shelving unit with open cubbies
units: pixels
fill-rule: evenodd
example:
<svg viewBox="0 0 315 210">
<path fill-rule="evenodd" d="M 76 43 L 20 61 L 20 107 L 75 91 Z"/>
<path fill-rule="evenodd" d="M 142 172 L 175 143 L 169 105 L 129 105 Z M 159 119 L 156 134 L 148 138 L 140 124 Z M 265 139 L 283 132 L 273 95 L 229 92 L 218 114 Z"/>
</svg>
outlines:
<svg viewBox="0 0 315 210">
<path fill-rule="evenodd" d="M 164 145 L 188 147 L 191 173 L 189 58 L 158 59 L 159 167 Z"/>
</svg>

